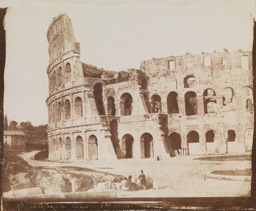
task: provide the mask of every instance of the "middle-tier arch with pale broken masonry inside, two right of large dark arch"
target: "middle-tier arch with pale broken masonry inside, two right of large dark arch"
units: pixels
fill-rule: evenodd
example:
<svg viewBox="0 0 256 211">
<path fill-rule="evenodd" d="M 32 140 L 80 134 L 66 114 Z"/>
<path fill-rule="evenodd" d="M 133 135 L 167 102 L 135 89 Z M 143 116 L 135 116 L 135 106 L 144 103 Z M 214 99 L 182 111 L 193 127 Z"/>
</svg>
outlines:
<svg viewBox="0 0 256 211">
<path fill-rule="evenodd" d="M 203 110 L 204 114 L 216 113 L 216 94 L 213 89 L 206 89 L 203 92 Z"/>
</svg>

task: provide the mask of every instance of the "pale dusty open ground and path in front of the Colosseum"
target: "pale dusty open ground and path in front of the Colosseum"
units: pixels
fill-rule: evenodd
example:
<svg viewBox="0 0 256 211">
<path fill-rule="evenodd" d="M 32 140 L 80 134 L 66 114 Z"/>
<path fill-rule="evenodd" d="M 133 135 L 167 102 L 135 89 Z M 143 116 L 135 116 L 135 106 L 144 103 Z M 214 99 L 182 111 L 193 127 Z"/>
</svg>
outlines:
<svg viewBox="0 0 256 211">
<path fill-rule="evenodd" d="M 247 155 L 237 156 L 187 156 L 174 157 L 156 161 L 147 159 L 120 159 L 115 162 L 50 162 L 36 161 L 31 157 L 36 151 L 23 153 L 20 156 L 31 166 L 62 167 L 75 166 L 110 172 L 116 175 L 139 176 L 141 169 L 147 176 L 157 181 L 159 190 L 140 190 L 136 192 L 120 191 L 123 197 L 238 197 L 249 196 L 250 182 L 234 180 L 217 180 L 205 178 L 204 174 L 214 170 L 250 169 L 251 161 Z M 245 155 L 245 158 L 243 156 Z M 212 159 L 209 157 L 212 157 Z M 206 159 L 196 159 L 206 158 Z"/>
</svg>

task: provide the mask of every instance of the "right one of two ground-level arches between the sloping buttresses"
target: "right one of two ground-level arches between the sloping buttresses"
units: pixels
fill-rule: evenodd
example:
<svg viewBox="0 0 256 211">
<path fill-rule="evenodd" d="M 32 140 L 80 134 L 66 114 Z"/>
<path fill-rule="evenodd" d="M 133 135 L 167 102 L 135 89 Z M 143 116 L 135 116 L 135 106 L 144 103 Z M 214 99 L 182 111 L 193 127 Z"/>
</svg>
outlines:
<svg viewBox="0 0 256 211">
<path fill-rule="evenodd" d="M 141 158 L 154 157 L 153 136 L 146 132 L 141 135 Z"/>
</svg>

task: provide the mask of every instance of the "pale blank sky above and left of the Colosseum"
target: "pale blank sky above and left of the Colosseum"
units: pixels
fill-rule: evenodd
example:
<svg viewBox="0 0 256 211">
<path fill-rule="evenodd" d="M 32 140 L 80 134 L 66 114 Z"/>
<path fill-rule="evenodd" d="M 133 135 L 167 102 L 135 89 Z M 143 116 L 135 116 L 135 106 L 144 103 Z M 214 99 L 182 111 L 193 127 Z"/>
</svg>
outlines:
<svg viewBox="0 0 256 211">
<path fill-rule="evenodd" d="M 72 20 L 81 61 L 106 70 L 139 69 L 141 61 L 186 51 L 252 50 L 254 0 L 68 2 L 0 2 L 0 7 L 9 6 L 4 20 L 4 114 L 8 119 L 34 125 L 48 122 L 46 32 L 59 13 L 67 13 Z"/>
</svg>

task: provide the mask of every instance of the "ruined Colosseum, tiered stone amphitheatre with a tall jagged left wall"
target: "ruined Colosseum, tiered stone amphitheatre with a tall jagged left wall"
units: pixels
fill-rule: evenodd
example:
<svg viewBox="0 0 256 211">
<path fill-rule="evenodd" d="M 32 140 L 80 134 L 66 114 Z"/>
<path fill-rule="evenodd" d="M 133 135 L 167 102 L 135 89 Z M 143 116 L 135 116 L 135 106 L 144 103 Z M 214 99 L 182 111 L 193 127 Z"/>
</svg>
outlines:
<svg viewBox="0 0 256 211">
<path fill-rule="evenodd" d="M 80 61 L 71 18 L 49 42 L 50 160 L 117 160 L 252 150 L 252 52 L 142 61 L 110 71 Z"/>
</svg>

